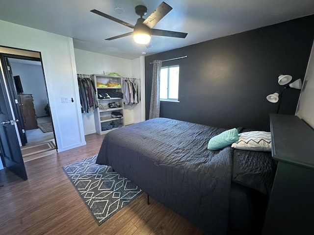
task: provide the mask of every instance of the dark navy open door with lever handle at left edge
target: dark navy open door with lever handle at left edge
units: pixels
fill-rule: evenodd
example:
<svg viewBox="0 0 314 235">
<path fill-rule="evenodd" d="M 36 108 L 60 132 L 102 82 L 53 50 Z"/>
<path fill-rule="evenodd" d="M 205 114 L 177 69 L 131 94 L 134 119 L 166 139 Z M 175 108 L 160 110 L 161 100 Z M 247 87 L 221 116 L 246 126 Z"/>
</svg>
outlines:
<svg viewBox="0 0 314 235">
<path fill-rule="evenodd" d="M 7 97 L 4 80 L 0 73 L 0 155 L 3 166 L 27 180 L 26 169 L 22 158 L 19 141 L 15 132 L 9 100 Z"/>
</svg>

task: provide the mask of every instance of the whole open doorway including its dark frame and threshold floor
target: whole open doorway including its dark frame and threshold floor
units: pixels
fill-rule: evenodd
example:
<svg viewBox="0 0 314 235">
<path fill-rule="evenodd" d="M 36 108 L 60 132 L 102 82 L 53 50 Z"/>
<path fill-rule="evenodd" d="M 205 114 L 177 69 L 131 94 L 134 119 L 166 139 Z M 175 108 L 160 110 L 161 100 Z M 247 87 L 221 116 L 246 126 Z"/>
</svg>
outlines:
<svg viewBox="0 0 314 235">
<path fill-rule="evenodd" d="M 52 117 L 41 58 L 1 54 L 24 162 L 56 152 Z M 38 53 L 40 55 L 40 53 Z"/>
</svg>

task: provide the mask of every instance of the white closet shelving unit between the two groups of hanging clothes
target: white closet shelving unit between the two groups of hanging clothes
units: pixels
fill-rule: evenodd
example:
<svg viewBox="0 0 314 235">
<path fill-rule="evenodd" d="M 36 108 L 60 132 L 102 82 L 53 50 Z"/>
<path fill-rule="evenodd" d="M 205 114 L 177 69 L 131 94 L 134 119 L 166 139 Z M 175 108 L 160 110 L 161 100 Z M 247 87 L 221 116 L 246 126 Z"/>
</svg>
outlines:
<svg viewBox="0 0 314 235">
<path fill-rule="evenodd" d="M 111 89 L 115 92 L 121 92 L 123 93 L 122 90 L 122 77 L 118 76 L 109 76 L 109 75 L 102 75 L 102 74 L 92 74 L 95 86 L 96 86 L 96 92 L 97 92 L 97 97 L 98 97 L 98 92 L 99 91 L 106 91 L 108 89 Z M 97 82 L 106 84 L 107 82 L 111 83 L 118 83 L 121 85 L 121 87 L 98 87 Z M 121 107 L 119 108 L 109 108 L 108 103 L 118 103 Z M 111 123 L 114 124 L 121 124 L 121 126 L 124 126 L 124 104 L 123 104 L 123 99 L 122 98 L 105 98 L 105 99 L 98 99 L 98 104 L 99 108 L 95 110 L 94 117 L 95 117 L 95 125 L 96 125 L 96 133 L 99 135 L 103 135 L 108 133 L 109 131 L 112 131 L 117 128 L 112 128 L 106 130 L 105 128 L 108 125 L 111 125 Z M 102 108 L 103 107 L 103 108 Z M 105 107 L 105 108 L 104 108 Z M 120 112 L 122 114 L 122 118 L 112 118 L 111 117 L 111 112 Z"/>
</svg>

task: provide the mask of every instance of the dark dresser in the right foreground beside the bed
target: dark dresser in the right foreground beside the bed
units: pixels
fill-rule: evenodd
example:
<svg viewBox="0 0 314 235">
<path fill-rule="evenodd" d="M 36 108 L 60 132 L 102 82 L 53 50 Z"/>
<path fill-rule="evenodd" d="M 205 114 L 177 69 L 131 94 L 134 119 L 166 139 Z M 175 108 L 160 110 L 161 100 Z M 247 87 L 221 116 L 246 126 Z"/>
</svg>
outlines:
<svg viewBox="0 0 314 235">
<path fill-rule="evenodd" d="M 314 130 L 292 115 L 270 115 L 278 161 L 263 235 L 314 234 Z"/>
</svg>

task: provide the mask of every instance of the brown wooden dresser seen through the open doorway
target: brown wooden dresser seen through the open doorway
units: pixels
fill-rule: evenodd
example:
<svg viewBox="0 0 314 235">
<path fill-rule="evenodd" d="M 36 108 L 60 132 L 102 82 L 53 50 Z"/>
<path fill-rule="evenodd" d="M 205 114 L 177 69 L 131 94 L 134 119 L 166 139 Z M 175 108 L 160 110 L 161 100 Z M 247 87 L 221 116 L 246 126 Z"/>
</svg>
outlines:
<svg viewBox="0 0 314 235">
<path fill-rule="evenodd" d="M 33 96 L 31 94 L 19 94 L 19 104 L 24 119 L 25 130 L 37 129 L 37 117 L 34 109 Z"/>
</svg>

